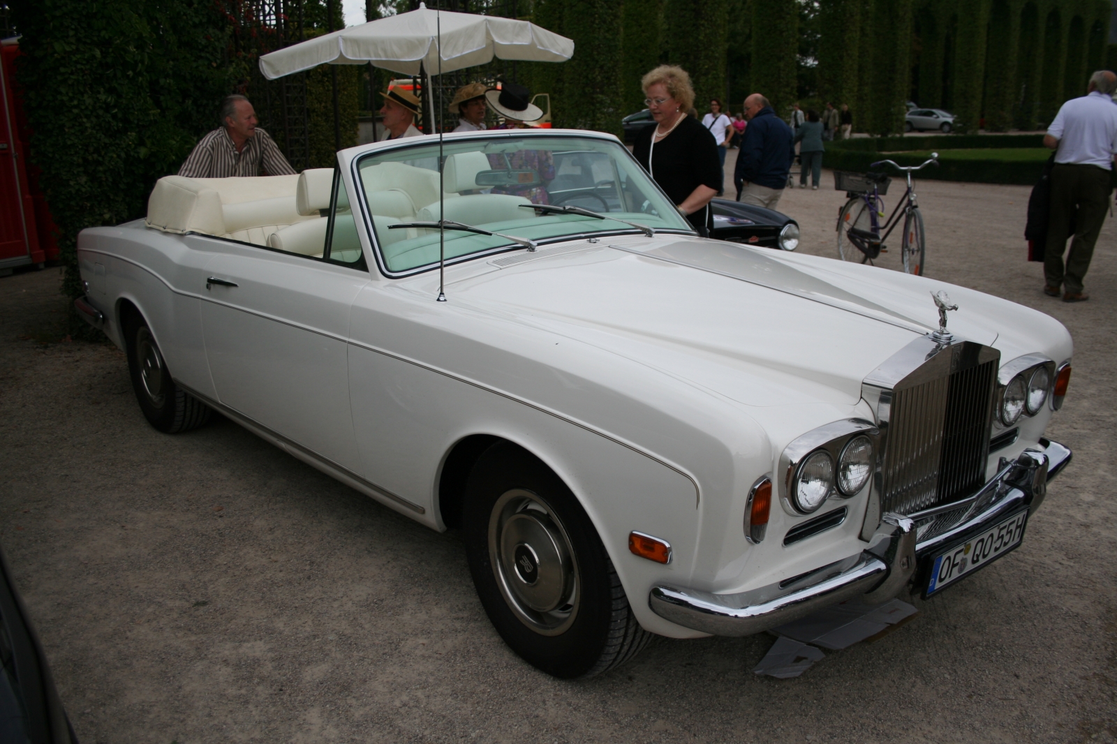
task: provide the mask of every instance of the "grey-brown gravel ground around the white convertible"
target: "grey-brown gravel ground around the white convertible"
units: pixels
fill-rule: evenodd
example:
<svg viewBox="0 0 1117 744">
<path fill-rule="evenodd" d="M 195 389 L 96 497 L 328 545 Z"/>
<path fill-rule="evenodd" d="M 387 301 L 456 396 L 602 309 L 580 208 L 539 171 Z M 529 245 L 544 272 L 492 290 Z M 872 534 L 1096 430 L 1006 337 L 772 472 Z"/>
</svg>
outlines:
<svg viewBox="0 0 1117 744">
<path fill-rule="evenodd" d="M 800 220 L 803 251 L 836 252 L 832 183 L 825 173 L 823 189 L 780 204 Z M 663 640 L 584 683 L 537 673 L 489 626 L 456 534 L 227 420 L 157 433 L 121 352 L 60 338 L 57 269 L 0 279 L 0 538 L 78 735 L 1114 742 L 1115 228 L 1087 277 L 1092 299 L 1046 297 L 1020 237 L 1028 191 L 920 183 L 927 274 L 1070 328 L 1075 375 L 1049 436 L 1075 461 L 1013 555 L 783 681 L 751 671 L 766 636 Z"/>
</svg>

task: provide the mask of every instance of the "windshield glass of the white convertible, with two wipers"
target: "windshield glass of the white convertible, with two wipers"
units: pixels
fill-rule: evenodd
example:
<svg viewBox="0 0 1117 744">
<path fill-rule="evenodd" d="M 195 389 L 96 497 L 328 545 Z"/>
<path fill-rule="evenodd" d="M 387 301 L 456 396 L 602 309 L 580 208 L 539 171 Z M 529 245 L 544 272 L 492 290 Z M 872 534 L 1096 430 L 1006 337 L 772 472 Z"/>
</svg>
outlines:
<svg viewBox="0 0 1117 744">
<path fill-rule="evenodd" d="M 433 266 L 439 259 L 437 229 L 392 229 L 393 225 L 442 217 L 438 142 L 420 142 L 369 153 L 356 165 L 376 245 L 391 274 Z M 691 231 L 618 142 L 563 135 L 495 135 L 449 140 L 442 152 L 448 221 L 536 242 L 593 232 L 637 231 L 618 220 L 655 230 Z M 607 219 L 547 213 L 532 209 L 532 204 L 580 207 Z M 445 240 L 447 260 L 516 245 L 500 236 L 462 231 L 447 231 Z"/>
</svg>

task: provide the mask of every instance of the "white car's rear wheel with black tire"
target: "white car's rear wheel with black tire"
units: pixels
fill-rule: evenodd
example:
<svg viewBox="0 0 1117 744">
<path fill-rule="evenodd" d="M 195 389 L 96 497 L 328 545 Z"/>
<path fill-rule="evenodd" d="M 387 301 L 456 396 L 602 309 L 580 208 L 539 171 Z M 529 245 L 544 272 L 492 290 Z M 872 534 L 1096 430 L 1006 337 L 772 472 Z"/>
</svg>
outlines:
<svg viewBox="0 0 1117 744">
<path fill-rule="evenodd" d="M 124 335 L 132 389 L 147 422 L 163 433 L 180 433 L 209 421 L 210 408 L 174 384 L 146 321 L 132 314 L 124 322 Z"/>
</svg>

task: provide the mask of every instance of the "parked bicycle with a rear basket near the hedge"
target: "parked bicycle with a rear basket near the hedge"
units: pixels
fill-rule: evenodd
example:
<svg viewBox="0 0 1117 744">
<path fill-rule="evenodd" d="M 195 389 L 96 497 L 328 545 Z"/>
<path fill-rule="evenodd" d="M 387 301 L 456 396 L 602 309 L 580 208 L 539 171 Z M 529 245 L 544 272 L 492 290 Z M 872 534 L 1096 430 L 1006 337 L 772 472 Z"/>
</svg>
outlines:
<svg viewBox="0 0 1117 744">
<path fill-rule="evenodd" d="M 900 244 L 900 259 L 905 274 L 923 274 L 925 257 L 925 238 L 923 214 L 916 201 L 915 189 L 911 185 L 911 173 L 934 163 L 938 165 L 938 153 L 930 153 L 930 159 L 922 165 L 899 165 L 890 160 L 881 160 L 869 168 L 891 165 L 904 171 L 907 177 L 907 191 L 896 203 L 896 209 L 888 220 L 880 225 L 879 218 L 885 216 L 885 202 L 880 199 L 888 193 L 891 179 L 885 173 L 850 173 L 834 171 L 834 188 L 844 191 L 849 201 L 838 211 L 838 256 L 844 261 L 868 263 L 872 266 L 875 258 L 887 252 L 885 240 L 899 225 L 899 216 L 904 214 L 904 238 Z M 901 210 L 903 208 L 903 210 Z M 884 232 L 884 235 L 881 235 Z"/>
</svg>

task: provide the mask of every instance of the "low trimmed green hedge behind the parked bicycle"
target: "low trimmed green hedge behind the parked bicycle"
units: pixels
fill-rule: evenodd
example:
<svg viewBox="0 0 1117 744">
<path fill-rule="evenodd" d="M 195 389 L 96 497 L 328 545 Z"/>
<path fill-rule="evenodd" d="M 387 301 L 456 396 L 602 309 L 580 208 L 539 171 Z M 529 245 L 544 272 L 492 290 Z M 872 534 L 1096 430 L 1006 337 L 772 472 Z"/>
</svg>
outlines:
<svg viewBox="0 0 1117 744">
<path fill-rule="evenodd" d="M 930 150 L 917 150 L 882 154 L 875 151 L 831 147 L 822 156 L 822 164 L 839 171 L 863 173 L 868 170 L 878 170 L 889 173 L 892 178 L 901 178 L 887 165 L 871 169 L 871 164 L 887 159 L 896 161 L 900 165 L 918 165 L 927 160 L 930 153 Z M 925 168 L 914 178 L 916 180 L 1032 185 L 1040 180 L 1043 173 L 1043 163 L 1048 161 L 1050 155 L 1051 151 L 1046 147 L 942 150 L 938 153 L 939 165 Z"/>
</svg>

